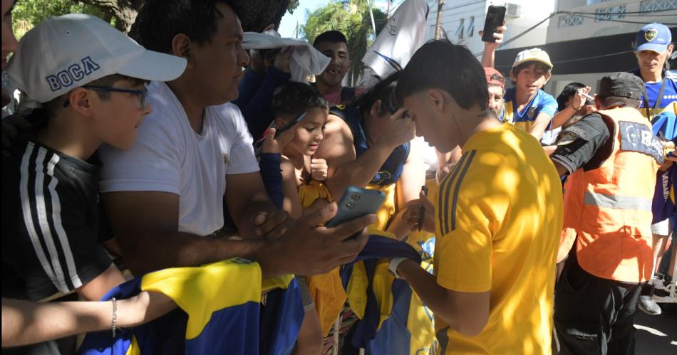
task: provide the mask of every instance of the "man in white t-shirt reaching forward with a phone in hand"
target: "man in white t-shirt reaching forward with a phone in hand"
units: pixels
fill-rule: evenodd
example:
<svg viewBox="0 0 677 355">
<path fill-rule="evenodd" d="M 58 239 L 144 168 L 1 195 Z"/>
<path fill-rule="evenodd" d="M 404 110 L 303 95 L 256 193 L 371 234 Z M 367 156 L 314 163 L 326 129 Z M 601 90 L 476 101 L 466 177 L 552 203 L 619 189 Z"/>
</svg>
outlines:
<svg viewBox="0 0 677 355">
<path fill-rule="evenodd" d="M 130 269 L 237 256 L 259 262 L 268 277 L 313 275 L 353 260 L 366 234 L 344 239 L 375 216 L 327 229 L 318 226 L 334 216 L 336 204 L 291 221 L 266 194 L 247 125 L 228 103 L 249 58 L 227 1 L 148 0 L 133 33 L 188 65 L 180 78 L 150 85 L 153 115 L 132 149 L 100 151 L 105 211 Z M 242 240 L 205 237 L 223 226 L 223 198 Z"/>
</svg>

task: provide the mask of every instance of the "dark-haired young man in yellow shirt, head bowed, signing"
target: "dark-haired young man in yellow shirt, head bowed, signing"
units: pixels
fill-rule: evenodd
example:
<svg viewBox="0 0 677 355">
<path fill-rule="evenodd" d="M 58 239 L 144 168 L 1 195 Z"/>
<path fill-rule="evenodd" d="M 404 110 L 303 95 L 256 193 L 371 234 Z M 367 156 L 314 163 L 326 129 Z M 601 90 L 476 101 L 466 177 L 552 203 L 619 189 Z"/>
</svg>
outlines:
<svg viewBox="0 0 677 355">
<path fill-rule="evenodd" d="M 487 109 L 482 66 L 464 46 L 430 41 L 397 87 L 416 134 L 462 158 L 435 206 L 435 275 L 393 258 L 434 313 L 442 354 L 550 354 L 554 260 L 562 231 L 559 176 L 537 139 Z M 435 208 L 436 207 L 436 208 Z"/>
</svg>

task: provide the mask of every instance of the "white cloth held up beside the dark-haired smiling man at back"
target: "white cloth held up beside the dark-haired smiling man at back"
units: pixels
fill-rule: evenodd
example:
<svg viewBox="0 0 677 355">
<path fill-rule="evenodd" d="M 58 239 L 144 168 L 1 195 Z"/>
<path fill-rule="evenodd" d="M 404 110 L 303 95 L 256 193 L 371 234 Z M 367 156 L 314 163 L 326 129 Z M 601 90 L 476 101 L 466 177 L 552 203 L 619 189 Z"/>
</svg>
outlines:
<svg viewBox="0 0 677 355">
<path fill-rule="evenodd" d="M 294 47 L 289 61 L 289 71 L 291 80 L 307 83 L 308 75 L 321 74 L 331 58 L 316 50 L 310 43 L 296 38 L 281 38 L 275 30 L 269 30 L 265 33 L 245 32 L 242 39 L 244 49 L 269 49 Z"/>
</svg>

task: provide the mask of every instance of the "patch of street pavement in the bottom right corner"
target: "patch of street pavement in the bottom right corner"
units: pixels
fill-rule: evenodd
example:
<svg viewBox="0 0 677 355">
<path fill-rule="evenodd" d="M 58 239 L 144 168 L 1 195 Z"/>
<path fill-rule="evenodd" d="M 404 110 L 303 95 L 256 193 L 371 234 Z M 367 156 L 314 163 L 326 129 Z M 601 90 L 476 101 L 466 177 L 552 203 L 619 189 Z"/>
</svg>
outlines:
<svg viewBox="0 0 677 355">
<path fill-rule="evenodd" d="M 663 312 L 650 316 L 638 311 L 635 316 L 636 355 L 677 354 L 677 304 L 659 304 Z"/>
</svg>

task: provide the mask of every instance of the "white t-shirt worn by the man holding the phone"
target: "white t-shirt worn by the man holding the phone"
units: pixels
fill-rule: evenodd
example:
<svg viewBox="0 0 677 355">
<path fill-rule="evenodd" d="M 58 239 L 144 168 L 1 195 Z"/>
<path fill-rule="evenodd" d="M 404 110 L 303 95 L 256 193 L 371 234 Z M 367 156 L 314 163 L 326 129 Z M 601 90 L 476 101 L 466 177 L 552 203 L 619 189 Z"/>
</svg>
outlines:
<svg viewBox="0 0 677 355">
<path fill-rule="evenodd" d="M 151 83 L 148 102 L 153 112 L 139 127 L 132 149 L 99 149 L 100 191 L 177 194 L 179 231 L 214 233 L 223 226 L 226 175 L 259 170 L 242 113 L 231 103 L 207 107 L 202 134 L 197 134 L 165 83 Z"/>
</svg>

